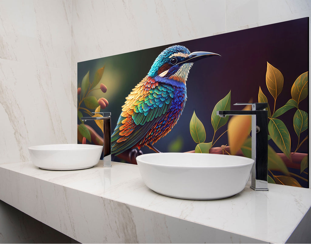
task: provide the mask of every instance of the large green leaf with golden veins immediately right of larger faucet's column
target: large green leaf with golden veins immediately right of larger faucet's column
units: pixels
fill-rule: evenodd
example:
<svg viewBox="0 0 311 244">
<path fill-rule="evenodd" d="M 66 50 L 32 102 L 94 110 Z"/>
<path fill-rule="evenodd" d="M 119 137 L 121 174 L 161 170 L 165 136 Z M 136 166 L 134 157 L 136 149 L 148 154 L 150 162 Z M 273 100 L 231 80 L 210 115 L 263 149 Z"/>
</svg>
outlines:
<svg viewBox="0 0 311 244">
<path fill-rule="evenodd" d="M 290 133 L 285 124 L 280 119 L 270 119 L 268 131 L 274 143 L 290 159 Z"/>
</svg>

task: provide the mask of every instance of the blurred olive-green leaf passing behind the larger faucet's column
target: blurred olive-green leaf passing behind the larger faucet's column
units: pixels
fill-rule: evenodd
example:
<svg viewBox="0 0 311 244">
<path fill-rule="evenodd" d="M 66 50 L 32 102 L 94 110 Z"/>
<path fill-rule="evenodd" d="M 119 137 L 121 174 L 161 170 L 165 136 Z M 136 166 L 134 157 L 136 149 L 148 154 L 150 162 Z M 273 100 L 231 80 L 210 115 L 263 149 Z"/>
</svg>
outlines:
<svg viewBox="0 0 311 244">
<path fill-rule="evenodd" d="M 245 140 L 241 150 L 245 157 L 252 158 L 252 138 Z M 280 171 L 285 175 L 289 174 L 285 163 L 270 145 L 268 145 L 268 169 Z"/>
</svg>

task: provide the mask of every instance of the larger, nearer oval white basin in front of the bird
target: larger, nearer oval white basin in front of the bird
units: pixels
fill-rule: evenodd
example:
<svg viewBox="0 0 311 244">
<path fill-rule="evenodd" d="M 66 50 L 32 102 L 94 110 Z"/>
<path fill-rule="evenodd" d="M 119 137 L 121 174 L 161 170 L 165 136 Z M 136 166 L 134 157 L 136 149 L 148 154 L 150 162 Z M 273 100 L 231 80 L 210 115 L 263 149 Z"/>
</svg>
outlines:
<svg viewBox="0 0 311 244">
<path fill-rule="evenodd" d="M 150 153 L 136 158 L 147 187 L 169 197 L 212 200 L 241 192 L 254 160 L 208 153 Z"/>
</svg>

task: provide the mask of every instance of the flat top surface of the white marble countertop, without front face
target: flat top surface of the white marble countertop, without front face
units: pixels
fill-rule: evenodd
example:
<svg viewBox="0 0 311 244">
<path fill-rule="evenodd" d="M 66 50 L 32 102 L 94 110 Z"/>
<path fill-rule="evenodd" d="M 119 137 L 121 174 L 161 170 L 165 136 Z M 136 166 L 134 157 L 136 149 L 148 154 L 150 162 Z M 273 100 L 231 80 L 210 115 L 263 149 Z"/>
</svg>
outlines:
<svg viewBox="0 0 311 244">
<path fill-rule="evenodd" d="M 6 163 L 0 164 L 0 175 L 1 168 L 260 242 L 286 242 L 311 207 L 311 189 L 276 184 L 269 184 L 268 192 L 258 192 L 250 189 L 248 183 L 241 193 L 220 200 L 166 197 L 146 187 L 136 165 L 118 162 L 113 162 L 111 168 L 103 168 L 99 163 L 76 171 L 42 170 L 32 162 Z"/>
</svg>

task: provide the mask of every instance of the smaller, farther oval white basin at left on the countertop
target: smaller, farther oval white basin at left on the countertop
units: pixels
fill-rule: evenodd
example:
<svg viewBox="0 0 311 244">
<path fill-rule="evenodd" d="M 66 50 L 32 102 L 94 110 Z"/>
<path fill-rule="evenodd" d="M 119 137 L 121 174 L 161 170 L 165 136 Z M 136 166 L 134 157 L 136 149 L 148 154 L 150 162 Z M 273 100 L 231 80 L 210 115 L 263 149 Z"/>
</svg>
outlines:
<svg viewBox="0 0 311 244">
<path fill-rule="evenodd" d="M 103 146 L 89 144 L 52 144 L 28 148 L 33 164 L 46 170 L 78 170 L 96 165 Z"/>
</svg>

